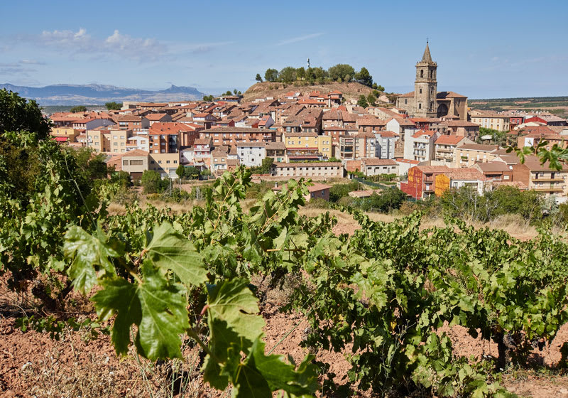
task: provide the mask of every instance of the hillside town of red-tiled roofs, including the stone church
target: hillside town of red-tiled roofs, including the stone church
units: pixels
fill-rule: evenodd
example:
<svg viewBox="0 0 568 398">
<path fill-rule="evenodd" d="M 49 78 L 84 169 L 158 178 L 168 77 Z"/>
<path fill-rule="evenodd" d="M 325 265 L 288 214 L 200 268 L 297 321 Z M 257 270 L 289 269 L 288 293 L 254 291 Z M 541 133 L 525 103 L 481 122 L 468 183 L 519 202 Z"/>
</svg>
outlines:
<svg viewBox="0 0 568 398">
<path fill-rule="evenodd" d="M 393 175 L 415 199 L 462 186 L 481 194 L 513 185 L 558 201 L 568 194 L 567 166 L 553 170 L 536 156 L 521 163 L 506 150 L 543 141 L 547 149 L 566 147 L 567 120 L 545 112 L 470 109 L 466 96 L 437 90 L 428 45 L 416 63 L 415 90 L 393 102 L 381 95 L 378 104 L 361 107 L 338 90 L 299 88 L 249 102 L 224 95 L 212 102 L 124 102 L 116 111 L 58 112 L 50 115 L 51 134 L 61 144 L 106 154 L 109 166 L 135 179 L 148 170 L 177 178 L 180 165 L 219 176 L 239 165 L 271 164 L 263 177 Z M 483 134 L 488 130 L 505 139 Z"/>
</svg>

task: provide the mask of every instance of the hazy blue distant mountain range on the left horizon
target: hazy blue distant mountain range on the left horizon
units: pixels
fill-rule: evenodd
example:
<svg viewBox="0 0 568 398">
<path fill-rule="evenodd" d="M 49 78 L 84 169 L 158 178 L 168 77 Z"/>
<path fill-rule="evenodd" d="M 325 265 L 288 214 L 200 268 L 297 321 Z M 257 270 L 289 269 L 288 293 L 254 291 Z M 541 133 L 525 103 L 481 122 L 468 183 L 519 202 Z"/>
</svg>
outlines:
<svg viewBox="0 0 568 398">
<path fill-rule="evenodd" d="M 21 97 L 35 99 L 40 105 L 99 105 L 105 102 L 146 101 L 170 102 L 202 99 L 203 93 L 195 87 L 171 85 L 166 90 L 151 91 L 111 85 L 50 85 L 45 87 L 15 86 L 0 84 L 17 92 Z"/>
</svg>

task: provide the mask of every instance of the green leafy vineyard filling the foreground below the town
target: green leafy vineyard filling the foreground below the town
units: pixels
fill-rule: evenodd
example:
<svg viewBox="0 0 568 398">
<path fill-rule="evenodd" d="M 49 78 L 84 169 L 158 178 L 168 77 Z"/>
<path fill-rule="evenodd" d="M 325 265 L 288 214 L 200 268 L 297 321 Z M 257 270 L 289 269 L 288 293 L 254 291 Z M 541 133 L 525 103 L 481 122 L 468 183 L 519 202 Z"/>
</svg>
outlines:
<svg viewBox="0 0 568 398">
<path fill-rule="evenodd" d="M 528 367 L 568 322 L 568 244 L 547 230 L 523 242 L 452 218 L 421 229 L 419 212 L 386 223 L 341 208 L 361 228 L 337 236 L 329 213 L 298 213 L 309 181 L 243 210 L 245 168 L 190 212 L 133 203 L 109 215 L 113 185 L 85 180 L 66 149 L 26 131 L 0 144 L 2 280 L 41 308 L 2 313 L 53 338 L 110 333 L 117 356 L 156 366 L 195 348 L 200 377 L 223 396 L 514 397 L 501 373 Z M 278 311 L 308 325 L 301 361 L 273 354 L 297 324 L 275 346 L 264 340 L 260 308 L 285 285 Z M 88 297 L 96 317 L 66 316 L 71 294 Z M 444 331 L 457 326 L 497 355 L 458 355 Z M 568 343 L 561 352 L 559 372 Z M 346 356 L 344 379 L 321 353 Z"/>
</svg>

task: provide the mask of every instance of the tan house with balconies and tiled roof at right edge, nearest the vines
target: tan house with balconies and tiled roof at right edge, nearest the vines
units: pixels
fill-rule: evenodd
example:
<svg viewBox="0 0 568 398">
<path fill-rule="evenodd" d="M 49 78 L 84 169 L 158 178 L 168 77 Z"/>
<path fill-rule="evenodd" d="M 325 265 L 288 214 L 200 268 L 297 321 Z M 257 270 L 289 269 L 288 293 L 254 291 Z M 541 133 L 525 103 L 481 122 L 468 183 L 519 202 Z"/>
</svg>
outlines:
<svg viewBox="0 0 568 398">
<path fill-rule="evenodd" d="M 562 163 L 562 170 L 550 168 L 549 163 L 541 165 L 536 156 L 525 156 L 525 163 L 514 164 L 513 181 L 527 185 L 528 189 L 550 195 L 566 195 L 568 192 L 568 166 Z"/>
</svg>

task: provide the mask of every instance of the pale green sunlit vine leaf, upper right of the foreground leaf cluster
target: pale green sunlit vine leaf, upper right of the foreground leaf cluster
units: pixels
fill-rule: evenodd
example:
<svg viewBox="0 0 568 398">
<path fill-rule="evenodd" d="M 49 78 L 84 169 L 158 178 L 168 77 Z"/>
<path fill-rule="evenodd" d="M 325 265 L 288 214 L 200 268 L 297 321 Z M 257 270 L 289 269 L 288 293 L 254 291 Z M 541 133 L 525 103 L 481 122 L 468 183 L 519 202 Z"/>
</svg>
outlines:
<svg viewBox="0 0 568 398">
<path fill-rule="evenodd" d="M 174 271 L 184 284 L 199 286 L 207 281 L 207 269 L 201 255 L 169 222 L 154 228 L 145 250 L 156 267 Z"/>
</svg>

